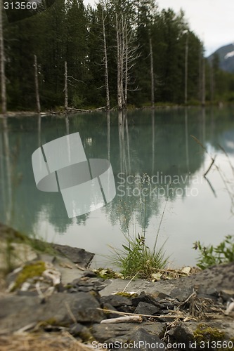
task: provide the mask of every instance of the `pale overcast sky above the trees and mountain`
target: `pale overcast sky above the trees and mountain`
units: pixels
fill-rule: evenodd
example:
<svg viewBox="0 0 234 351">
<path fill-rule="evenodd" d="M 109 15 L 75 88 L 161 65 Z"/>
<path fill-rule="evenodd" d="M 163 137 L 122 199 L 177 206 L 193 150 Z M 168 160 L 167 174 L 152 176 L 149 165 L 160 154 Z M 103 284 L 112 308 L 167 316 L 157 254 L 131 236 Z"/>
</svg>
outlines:
<svg viewBox="0 0 234 351">
<path fill-rule="evenodd" d="M 84 4 L 95 3 L 84 0 Z M 161 9 L 185 11 L 190 29 L 204 41 L 206 55 L 234 42 L 234 0 L 157 0 L 156 3 Z"/>
</svg>

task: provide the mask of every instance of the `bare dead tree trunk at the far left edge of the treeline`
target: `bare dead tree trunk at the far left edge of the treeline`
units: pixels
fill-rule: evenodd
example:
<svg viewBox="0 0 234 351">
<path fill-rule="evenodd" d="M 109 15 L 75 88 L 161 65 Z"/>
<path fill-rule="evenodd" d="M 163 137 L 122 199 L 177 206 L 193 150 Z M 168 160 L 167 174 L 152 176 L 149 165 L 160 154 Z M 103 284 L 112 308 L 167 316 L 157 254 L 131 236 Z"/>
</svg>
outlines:
<svg viewBox="0 0 234 351">
<path fill-rule="evenodd" d="M 1 112 L 6 114 L 6 76 L 5 76 L 5 53 L 4 53 L 4 30 L 2 20 L 2 4 L 0 1 L 0 74 L 1 74 Z"/>
</svg>

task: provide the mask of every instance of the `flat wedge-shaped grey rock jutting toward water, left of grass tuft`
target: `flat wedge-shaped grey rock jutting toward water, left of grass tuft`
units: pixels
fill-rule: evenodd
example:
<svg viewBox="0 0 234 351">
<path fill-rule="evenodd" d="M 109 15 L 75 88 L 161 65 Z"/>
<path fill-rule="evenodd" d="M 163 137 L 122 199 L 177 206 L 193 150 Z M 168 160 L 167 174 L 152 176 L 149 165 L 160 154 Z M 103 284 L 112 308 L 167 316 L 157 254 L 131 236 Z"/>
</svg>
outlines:
<svg viewBox="0 0 234 351">
<path fill-rule="evenodd" d="M 82 267 L 85 268 L 89 267 L 89 264 L 94 256 L 94 253 L 67 245 L 52 244 L 52 247 L 59 253 L 63 253 L 63 255 L 69 258 L 73 263 L 82 265 Z"/>
</svg>

